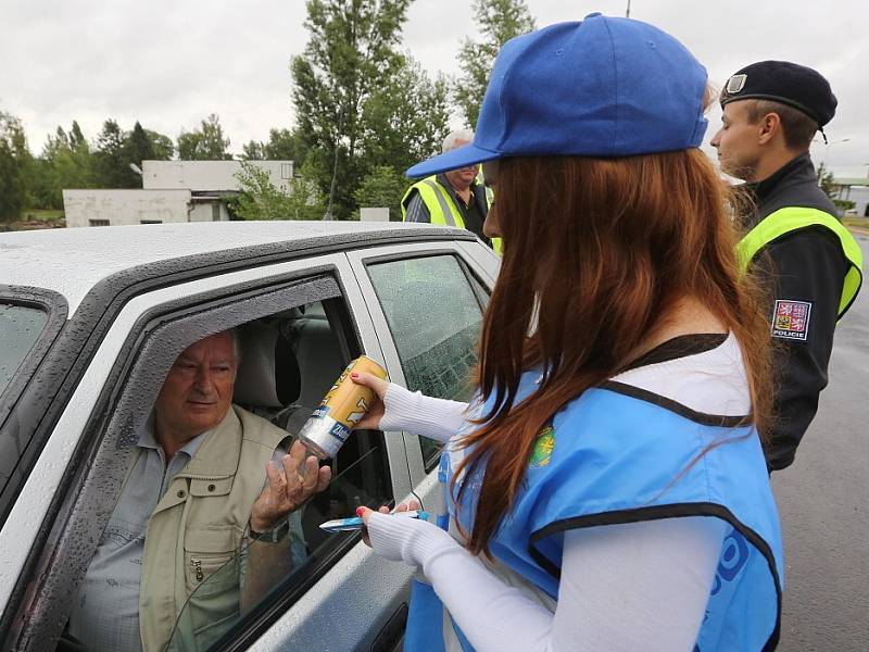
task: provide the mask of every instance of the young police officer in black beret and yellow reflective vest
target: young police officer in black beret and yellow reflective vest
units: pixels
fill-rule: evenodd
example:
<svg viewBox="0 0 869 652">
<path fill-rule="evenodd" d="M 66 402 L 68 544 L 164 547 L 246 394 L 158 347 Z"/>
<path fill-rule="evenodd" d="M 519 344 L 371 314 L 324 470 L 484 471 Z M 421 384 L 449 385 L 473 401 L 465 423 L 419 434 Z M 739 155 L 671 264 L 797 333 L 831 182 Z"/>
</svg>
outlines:
<svg viewBox="0 0 869 652">
<path fill-rule="evenodd" d="M 711 140 L 721 170 L 746 181 L 755 209 L 738 253 L 768 278 L 778 390 L 770 471 L 794 461 L 827 386 L 833 331 L 862 279 L 859 246 L 818 187 L 809 146 L 835 114 L 818 72 L 761 61 L 731 76 L 720 96 L 722 126 Z M 826 140 L 826 136 L 824 136 Z"/>
</svg>

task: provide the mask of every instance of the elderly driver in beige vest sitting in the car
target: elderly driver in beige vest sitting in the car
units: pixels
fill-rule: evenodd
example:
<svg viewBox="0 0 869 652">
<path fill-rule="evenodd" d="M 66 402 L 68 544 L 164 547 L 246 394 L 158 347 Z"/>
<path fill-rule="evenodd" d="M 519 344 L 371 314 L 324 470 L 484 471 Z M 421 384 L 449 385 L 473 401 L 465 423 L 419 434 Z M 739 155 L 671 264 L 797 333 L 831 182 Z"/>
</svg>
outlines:
<svg viewBox="0 0 869 652">
<path fill-rule="evenodd" d="M 175 636 L 204 648 L 264 584 L 259 568 L 270 581 L 289 569 L 287 515 L 331 472 L 232 405 L 237 347 L 230 331 L 206 337 L 166 376 L 70 618 L 90 650 L 163 650 L 182 609 Z"/>
</svg>

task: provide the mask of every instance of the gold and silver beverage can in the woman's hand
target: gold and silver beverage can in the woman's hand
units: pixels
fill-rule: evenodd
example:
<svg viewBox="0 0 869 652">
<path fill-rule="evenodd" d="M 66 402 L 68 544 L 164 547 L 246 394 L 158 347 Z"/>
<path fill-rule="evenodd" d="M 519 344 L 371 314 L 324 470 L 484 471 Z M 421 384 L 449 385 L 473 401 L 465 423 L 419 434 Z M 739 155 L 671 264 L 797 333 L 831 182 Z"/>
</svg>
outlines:
<svg viewBox="0 0 869 652">
<path fill-rule="evenodd" d="M 302 443 L 320 460 L 335 457 L 374 402 L 374 390 L 353 383 L 351 372 L 367 372 L 382 379 L 387 377 L 386 369 L 367 355 L 360 355 L 341 372 L 299 431 Z"/>
</svg>

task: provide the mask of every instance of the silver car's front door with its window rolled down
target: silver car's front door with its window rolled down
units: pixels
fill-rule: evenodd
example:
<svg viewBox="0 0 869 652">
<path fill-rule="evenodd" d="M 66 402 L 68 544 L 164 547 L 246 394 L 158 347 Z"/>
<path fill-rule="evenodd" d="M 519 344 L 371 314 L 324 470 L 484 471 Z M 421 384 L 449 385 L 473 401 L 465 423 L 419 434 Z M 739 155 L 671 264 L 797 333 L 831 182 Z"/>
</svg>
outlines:
<svg viewBox="0 0 869 652">
<path fill-rule="evenodd" d="M 51 650 L 59 637 L 61 649 L 74 649 L 64 627 L 95 551 L 104 543 L 138 432 L 166 372 L 188 346 L 239 327 L 291 336 L 299 397 L 308 400 L 324 393 L 351 358 L 364 352 L 383 362 L 343 253 L 216 273 L 127 301 L 78 378 L 0 530 L 0 566 L 18 576 L 0 595 L 3 650 Z M 263 404 L 245 408 L 275 418 L 285 414 L 284 406 L 256 398 L 264 394 L 253 396 Z M 291 649 L 394 645 L 410 569 L 375 557 L 358 532 L 328 536 L 316 528 L 318 519 L 336 515 L 330 511 L 355 507 L 354 500 L 377 506 L 411 490 L 401 437 L 370 431 L 352 439 L 344 449 L 356 457 L 342 457 L 342 450 L 331 462 L 340 482 L 330 485 L 322 504 L 312 500 L 305 506 L 306 550 L 293 572 L 274 578 L 268 594 L 218 636 L 194 639 L 191 649 L 247 649 L 264 632 L 277 647 Z M 339 614 L 342 626 L 333 627 Z"/>
</svg>

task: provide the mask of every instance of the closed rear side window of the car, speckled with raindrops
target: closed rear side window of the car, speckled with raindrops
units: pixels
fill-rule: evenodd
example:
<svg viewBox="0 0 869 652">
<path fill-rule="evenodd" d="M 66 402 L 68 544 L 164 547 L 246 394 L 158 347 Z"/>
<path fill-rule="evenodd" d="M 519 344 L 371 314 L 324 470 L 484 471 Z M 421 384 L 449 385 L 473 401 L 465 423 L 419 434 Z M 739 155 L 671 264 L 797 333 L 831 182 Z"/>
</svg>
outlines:
<svg viewBox="0 0 869 652">
<path fill-rule="evenodd" d="M 487 294 L 453 255 L 369 264 L 407 389 L 455 401 L 470 399 Z M 427 468 L 440 444 L 420 437 Z"/>
</svg>

